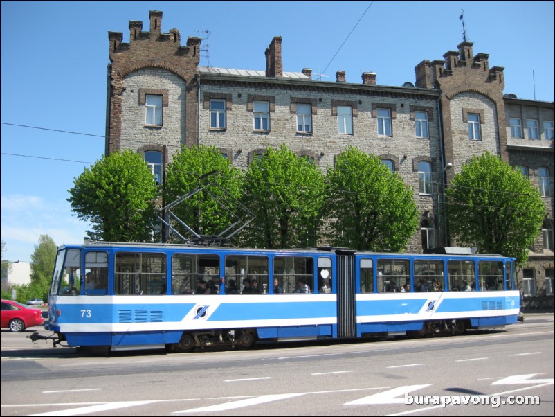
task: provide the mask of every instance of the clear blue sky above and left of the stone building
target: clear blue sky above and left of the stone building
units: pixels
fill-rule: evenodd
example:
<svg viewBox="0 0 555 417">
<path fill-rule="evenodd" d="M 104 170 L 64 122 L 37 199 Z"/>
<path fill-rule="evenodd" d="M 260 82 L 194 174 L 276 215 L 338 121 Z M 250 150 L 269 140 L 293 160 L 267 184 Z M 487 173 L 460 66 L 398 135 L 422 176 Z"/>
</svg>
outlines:
<svg viewBox="0 0 555 417">
<path fill-rule="evenodd" d="M 66 199 L 104 153 L 108 32 L 129 42 L 129 20 L 149 30 L 149 10 L 160 10 L 162 31 L 179 29 L 183 45 L 208 30 L 210 66 L 264 70 L 280 35 L 284 71 L 311 68 L 334 82 L 344 70 L 356 83 L 372 71 L 377 84 L 401 86 L 422 60 L 457 49 L 462 9 L 474 53 L 504 67 L 505 92 L 553 101 L 553 1 L 2 1 L 5 258 L 29 261 L 42 234 L 57 245 L 86 236 Z"/>
</svg>

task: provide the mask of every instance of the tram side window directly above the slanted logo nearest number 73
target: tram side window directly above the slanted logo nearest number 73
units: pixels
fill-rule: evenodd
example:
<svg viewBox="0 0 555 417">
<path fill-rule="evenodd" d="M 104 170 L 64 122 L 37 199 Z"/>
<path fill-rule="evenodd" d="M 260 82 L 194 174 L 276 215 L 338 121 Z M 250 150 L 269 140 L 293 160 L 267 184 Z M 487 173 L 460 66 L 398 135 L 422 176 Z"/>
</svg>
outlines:
<svg viewBox="0 0 555 417">
<path fill-rule="evenodd" d="M 205 284 L 200 285 L 201 281 Z M 172 292 L 174 294 L 217 294 L 219 292 L 219 256 L 174 254 L 172 256 Z"/>
</svg>

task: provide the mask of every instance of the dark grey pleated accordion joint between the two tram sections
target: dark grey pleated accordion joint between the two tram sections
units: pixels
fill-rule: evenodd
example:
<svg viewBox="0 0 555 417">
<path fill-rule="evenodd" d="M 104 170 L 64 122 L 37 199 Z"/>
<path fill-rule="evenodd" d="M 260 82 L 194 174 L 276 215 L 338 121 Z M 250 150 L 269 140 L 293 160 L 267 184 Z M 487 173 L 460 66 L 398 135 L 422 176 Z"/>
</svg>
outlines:
<svg viewBox="0 0 555 417">
<path fill-rule="evenodd" d="M 356 337 L 354 251 L 336 251 L 337 337 Z"/>
</svg>

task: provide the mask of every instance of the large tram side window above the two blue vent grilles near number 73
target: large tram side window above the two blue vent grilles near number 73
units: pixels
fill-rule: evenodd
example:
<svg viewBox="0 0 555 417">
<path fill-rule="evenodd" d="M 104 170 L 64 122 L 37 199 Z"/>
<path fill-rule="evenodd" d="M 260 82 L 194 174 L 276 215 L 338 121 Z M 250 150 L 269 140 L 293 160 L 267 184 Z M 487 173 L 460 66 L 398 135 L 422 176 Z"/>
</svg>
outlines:
<svg viewBox="0 0 555 417">
<path fill-rule="evenodd" d="M 119 295 L 165 294 L 165 254 L 118 252 L 114 266 L 114 292 Z"/>
</svg>

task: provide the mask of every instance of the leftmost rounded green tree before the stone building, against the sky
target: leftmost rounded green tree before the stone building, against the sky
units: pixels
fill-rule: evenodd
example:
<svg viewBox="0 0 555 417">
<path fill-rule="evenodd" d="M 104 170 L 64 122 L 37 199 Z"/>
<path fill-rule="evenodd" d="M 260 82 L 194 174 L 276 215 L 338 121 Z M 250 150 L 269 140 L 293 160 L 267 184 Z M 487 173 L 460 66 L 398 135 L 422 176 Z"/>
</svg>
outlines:
<svg viewBox="0 0 555 417">
<path fill-rule="evenodd" d="M 89 221 L 95 240 L 145 242 L 156 224 L 158 186 L 140 154 L 131 150 L 102 157 L 74 180 L 71 211 Z"/>
</svg>

